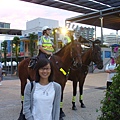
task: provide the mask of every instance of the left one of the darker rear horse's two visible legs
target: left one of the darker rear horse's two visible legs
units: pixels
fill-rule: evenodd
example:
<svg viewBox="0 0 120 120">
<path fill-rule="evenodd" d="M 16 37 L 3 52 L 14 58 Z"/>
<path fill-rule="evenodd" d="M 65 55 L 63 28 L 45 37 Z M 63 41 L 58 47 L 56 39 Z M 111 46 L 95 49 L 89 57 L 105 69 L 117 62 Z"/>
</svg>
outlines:
<svg viewBox="0 0 120 120">
<path fill-rule="evenodd" d="M 77 81 L 73 80 L 73 97 L 72 97 L 72 110 L 77 110 L 75 105 L 76 102 L 76 94 L 77 94 Z"/>
</svg>

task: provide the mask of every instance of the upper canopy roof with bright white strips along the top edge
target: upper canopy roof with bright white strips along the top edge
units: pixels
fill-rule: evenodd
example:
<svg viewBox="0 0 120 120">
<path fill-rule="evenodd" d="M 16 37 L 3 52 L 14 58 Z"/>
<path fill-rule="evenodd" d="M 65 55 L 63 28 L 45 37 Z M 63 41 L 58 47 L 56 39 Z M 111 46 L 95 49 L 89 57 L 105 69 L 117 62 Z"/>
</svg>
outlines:
<svg viewBox="0 0 120 120">
<path fill-rule="evenodd" d="M 120 0 L 21 0 L 63 10 L 91 13 L 120 6 Z"/>
</svg>

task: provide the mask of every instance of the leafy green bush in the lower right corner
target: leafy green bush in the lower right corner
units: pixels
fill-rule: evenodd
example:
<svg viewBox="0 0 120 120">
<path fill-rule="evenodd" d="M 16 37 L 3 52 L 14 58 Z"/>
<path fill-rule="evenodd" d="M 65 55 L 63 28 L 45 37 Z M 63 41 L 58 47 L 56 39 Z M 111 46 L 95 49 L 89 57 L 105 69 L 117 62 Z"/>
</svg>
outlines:
<svg viewBox="0 0 120 120">
<path fill-rule="evenodd" d="M 116 71 L 110 91 L 106 91 L 101 101 L 101 115 L 98 116 L 98 120 L 120 120 L 120 61 Z"/>
</svg>

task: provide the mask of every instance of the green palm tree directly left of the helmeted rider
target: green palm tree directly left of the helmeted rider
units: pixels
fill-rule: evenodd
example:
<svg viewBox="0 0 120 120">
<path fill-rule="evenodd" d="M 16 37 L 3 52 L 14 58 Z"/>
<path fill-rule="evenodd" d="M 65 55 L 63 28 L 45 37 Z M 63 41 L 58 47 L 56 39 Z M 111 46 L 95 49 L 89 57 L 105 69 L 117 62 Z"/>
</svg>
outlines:
<svg viewBox="0 0 120 120">
<path fill-rule="evenodd" d="M 34 40 L 38 39 L 38 35 L 36 34 L 29 34 L 29 39 L 30 39 L 30 44 L 29 44 L 29 51 L 30 51 L 30 56 L 33 57 L 34 55 Z"/>
</svg>

